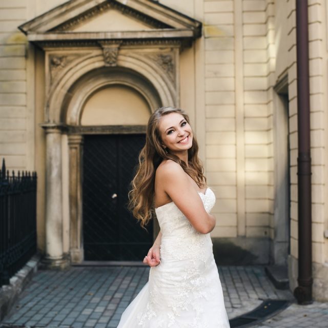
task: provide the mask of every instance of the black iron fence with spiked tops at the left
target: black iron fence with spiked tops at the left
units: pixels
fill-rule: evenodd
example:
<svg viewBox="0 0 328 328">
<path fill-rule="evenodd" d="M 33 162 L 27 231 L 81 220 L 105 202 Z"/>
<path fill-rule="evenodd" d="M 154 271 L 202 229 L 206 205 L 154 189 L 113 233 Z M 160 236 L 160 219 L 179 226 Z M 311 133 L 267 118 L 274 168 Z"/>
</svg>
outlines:
<svg viewBox="0 0 328 328">
<path fill-rule="evenodd" d="M 36 173 L 0 171 L 0 286 L 36 252 Z"/>
</svg>

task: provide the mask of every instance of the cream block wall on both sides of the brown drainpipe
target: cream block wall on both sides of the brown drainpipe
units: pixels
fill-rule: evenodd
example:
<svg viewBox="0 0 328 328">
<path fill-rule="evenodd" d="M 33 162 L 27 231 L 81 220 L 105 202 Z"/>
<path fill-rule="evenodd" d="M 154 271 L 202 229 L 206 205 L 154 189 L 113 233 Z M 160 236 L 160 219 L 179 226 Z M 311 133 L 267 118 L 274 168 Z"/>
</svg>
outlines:
<svg viewBox="0 0 328 328">
<path fill-rule="evenodd" d="M 324 238 L 327 228 L 326 161 L 327 151 L 327 48 L 326 48 L 326 8 L 324 1 L 309 1 L 309 57 L 310 57 L 310 124 L 312 157 L 312 258 L 313 293 L 317 300 L 326 300 L 325 286 L 328 283 L 327 250 L 328 242 Z M 294 58 L 289 67 L 290 89 L 290 126 L 291 135 L 291 256 L 290 280 L 294 288 L 297 285 L 298 233 L 297 233 L 297 73 L 296 73 L 296 19 L 295 4 L 288 2 L 289 13 L 289 52 Z M 294 268 L 294 269 L 293 269 Z"/>
</svg>

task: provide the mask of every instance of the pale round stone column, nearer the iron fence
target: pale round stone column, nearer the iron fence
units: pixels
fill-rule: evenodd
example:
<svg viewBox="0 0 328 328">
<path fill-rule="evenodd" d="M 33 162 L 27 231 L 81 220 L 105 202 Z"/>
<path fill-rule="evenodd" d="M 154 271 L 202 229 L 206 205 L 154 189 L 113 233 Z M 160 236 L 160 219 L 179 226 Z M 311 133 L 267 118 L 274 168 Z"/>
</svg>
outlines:
<svg viewBox="0 0 328 328">
<path fill-rule="evenodd" d="M 61 186 L 61 127 L 46 130 L 46 256 L 47 268 L 64 269 L 69 260 L 63 253 L 63 192 Z"/>
</svg>

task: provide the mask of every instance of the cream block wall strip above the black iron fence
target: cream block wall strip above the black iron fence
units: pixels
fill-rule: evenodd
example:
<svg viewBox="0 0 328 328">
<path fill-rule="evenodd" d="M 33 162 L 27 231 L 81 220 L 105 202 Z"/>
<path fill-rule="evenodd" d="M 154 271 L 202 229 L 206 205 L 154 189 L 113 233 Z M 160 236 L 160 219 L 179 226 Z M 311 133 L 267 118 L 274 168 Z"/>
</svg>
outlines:
<svg viewBox="0 0 328 328">
<path fill-rule="evenodd" d="M 26 20 L 26 2 L 0 2 L 0 154 L 9 170 L 33 169 L 27 149 L 26 50 L 17 26 Z"/>
</svg>

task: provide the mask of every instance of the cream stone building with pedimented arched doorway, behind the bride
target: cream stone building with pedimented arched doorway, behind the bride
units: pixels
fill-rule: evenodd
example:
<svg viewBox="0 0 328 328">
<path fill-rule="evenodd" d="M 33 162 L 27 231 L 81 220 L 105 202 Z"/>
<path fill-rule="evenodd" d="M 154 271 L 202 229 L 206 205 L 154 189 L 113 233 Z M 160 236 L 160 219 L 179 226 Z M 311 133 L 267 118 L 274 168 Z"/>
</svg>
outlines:
<svg viewBox="0 0 328 328">
<path fill-rule="evenodd" d="M 308 3 L 313 295 L 327 300 L 328 8 Z M 293 290 L 296 27 L 295 0 L 0 1 L 0 154 L 37 171 L 46 262 L 143 254 L 156 224 L 120 221 L 122 195 L 151 111 L 174 105 L 190 115 L 217 196 L 218 261 L 288 265 Z"/>
</svg>

